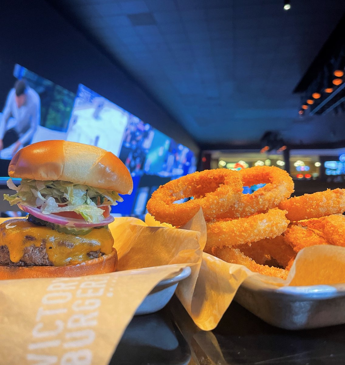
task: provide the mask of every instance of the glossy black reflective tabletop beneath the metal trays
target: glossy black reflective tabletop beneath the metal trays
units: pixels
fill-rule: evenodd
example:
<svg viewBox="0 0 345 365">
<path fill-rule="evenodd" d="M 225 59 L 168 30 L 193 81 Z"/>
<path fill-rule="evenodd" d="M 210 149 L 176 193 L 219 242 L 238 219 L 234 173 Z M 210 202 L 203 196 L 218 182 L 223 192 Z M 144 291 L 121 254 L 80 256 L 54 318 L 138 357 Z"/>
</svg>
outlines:
<svg viewBox="0 0 345 365">
<path fill-rule="evenodd" d="M 345 325 L 289 331 L 232 302 L 213 331 L 201 331 L 176 297 L 136 316 L 110 365 L 345 364 Z"/>
</svg>

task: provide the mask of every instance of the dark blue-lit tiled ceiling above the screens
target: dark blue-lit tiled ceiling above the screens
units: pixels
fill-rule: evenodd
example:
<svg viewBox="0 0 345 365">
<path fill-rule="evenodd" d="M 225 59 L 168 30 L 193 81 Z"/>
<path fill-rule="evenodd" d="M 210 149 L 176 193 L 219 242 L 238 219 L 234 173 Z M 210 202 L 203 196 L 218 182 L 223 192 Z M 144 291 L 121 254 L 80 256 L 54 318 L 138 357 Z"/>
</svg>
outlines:
<svg viewBox="0 0 345 365">
<path fill-rule="evenodd" d="M 292 92 L 344 0 L 47 0 L 203 148 L 345 139 L 345 116 L 298 115 Z M 147 120 L 149 122 L 149 120 Z"/>
</svg>

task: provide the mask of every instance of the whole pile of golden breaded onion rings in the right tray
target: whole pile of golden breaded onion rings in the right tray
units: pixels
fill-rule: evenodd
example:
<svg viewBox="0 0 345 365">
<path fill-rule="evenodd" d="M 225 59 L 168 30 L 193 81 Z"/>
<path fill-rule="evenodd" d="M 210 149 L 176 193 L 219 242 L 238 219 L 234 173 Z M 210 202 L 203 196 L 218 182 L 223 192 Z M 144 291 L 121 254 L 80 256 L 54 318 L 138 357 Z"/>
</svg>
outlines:
<svg viewBox="0 0 345 365">
<path fill-rule="evenodd" d="M 153 193 L 149 213 L 180 226 L 201 207 L 207 225 L 205 252 L 283 279 L 304 247 L 345 247 L 345 189 L 290 198 L 293 180 L 280 168 L 228 172 L 205 170 L 169 181 Z M 250 195 L 241 193 L 242 186 L 260 183 L 266 185 Z M 186 197 L 194 199 L 173 204 Z"/>
</svg>

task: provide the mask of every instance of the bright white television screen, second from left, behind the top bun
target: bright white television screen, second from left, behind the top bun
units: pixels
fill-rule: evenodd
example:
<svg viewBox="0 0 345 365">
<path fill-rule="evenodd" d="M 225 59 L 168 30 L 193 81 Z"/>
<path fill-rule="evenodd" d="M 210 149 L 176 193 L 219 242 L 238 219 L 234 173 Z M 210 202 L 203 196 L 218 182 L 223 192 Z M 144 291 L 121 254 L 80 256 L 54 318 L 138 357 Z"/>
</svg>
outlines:
<svg viewBox="0 0 345 365">
<path fill-rule="evenodd" d="M 79 84 L 67 141 L 101 147 L 118 156 L 129 113 Z"/>
</svg>

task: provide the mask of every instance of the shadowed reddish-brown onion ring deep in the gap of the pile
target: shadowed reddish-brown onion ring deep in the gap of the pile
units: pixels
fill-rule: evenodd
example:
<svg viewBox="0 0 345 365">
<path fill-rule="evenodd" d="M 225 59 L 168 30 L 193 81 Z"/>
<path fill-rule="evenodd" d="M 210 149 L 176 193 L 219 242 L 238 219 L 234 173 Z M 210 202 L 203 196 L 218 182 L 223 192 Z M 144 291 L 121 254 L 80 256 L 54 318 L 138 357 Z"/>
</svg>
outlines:
<svg viewBox="0 0 345 365">
<path fill-rule="evenodd" d="M 296 252 L 285 241 L 283 235 L 275 238 L 265 238 L 251 245 L 236 246 L 243 254 L 252 258 L 257 264 L 265 265 L 270 260 L 277 261 L 279 266 L 287 268 L 291 259 L 296 257 Z M 267 265 L 267 264 L 266 264 Z"/>
</svg>

